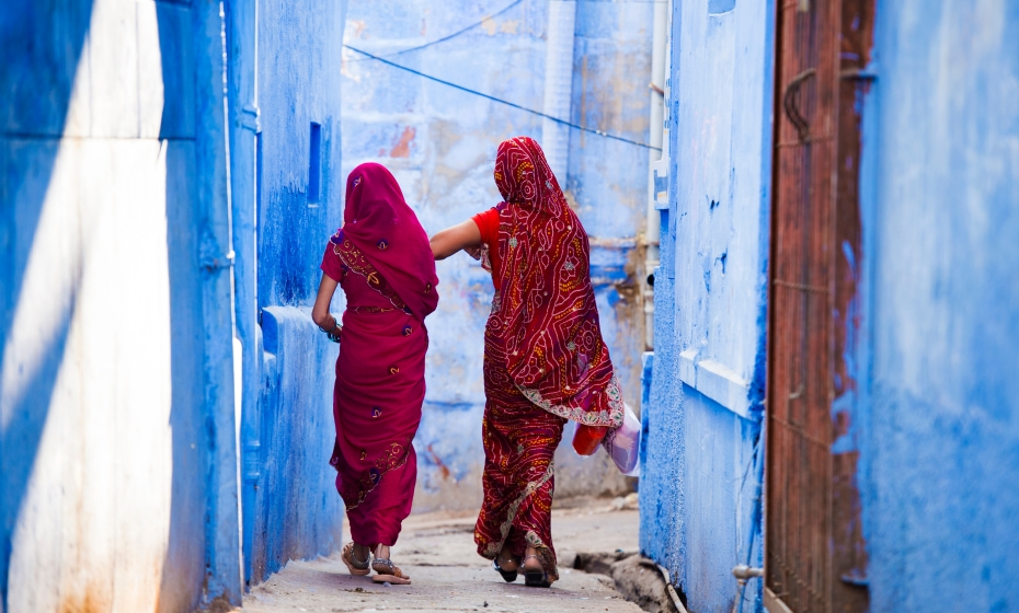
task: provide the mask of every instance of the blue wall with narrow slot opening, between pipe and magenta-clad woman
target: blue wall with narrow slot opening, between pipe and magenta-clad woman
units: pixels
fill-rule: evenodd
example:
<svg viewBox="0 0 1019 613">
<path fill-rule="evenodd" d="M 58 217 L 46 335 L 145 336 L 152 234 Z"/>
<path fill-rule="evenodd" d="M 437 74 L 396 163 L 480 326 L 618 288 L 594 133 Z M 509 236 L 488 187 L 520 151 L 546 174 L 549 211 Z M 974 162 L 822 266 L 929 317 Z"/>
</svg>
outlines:
<svg viewBox="0 0 1019 613">
<path fill-rule="evenodd" d="M 244 554 L 255 583 L 341 544 L 343 505 L 329 465 L 336 350 L 309 308 L 342 217 L 346 2 L 262 0 L 256 14 L 251 3 L 231 8 Z"/>
</svg>

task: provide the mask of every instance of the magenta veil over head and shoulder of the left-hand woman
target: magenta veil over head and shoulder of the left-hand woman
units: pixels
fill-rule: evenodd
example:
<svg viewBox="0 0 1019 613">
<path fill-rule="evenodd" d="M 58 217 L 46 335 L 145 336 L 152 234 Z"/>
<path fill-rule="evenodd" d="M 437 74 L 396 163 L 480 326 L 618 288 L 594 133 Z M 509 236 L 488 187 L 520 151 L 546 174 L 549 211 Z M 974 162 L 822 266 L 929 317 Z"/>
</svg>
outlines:
<svg viewBox="0 0 1019 613">
<path fill-rule="evenodd" d="M 419 320 L 435 311 L 435 257 L 428 235 L 386 166 L 367 162 L 346 178 L 343 236 L 364 254 Z"/>
</svg>

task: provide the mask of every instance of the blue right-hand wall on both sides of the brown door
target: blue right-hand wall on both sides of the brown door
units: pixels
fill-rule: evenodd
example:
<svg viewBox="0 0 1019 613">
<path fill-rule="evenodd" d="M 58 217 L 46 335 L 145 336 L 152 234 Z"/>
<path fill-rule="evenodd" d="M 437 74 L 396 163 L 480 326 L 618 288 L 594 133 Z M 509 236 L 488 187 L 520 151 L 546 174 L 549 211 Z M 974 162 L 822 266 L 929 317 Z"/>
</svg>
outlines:
<svg viewBox="0 0 1019 613">
<path fill-rule="evenodd" d="M 772 12 L 688 1 L 673 15 L 641 547 L 691 611 L 728 610 L 731 567 L 762 563 L 759 534 L 746 544 L 759 528 Z M 854 381 L 832 407 L 857 407 L 835 449 L 860 451 L 871 610 L 1011 611 L 1019 8 L 915 0 L 879 3 L 877 19 L 877 80 L 859 101 L 862 250 L 843 250 L 858 275 L 858 312 L 840 320 Z"/>
</svg>

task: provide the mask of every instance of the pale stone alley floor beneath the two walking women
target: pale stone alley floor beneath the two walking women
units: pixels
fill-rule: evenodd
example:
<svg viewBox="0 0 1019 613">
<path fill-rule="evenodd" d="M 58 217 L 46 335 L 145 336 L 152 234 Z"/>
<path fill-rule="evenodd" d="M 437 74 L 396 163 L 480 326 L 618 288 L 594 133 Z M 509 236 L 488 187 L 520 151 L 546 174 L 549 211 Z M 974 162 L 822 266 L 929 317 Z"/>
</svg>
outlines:
<svg viewBox="0 0 1019 613">
<path fill-rule="evenodd" d="M 373 583 L 352 577 L 339 556 L 291 562 L 244 598 L 247 613 L 291 611 L 608 611 L 636 613 L 606 575 L 571 568 L 582 555 L 636 552 L 638 511 L 595 500 L 552 512 L 560 580 L 550 589 L 527 588 L 524 578 L 505 583 L 490 562 L 474 553 L 472 513 L 411 516 L 393 560 L 411 576 L 411 586 Z M 348 540 L 350 535 L 344 534 Z M 344 541 L 345 542 L 345 541 Z"/>
</svg>

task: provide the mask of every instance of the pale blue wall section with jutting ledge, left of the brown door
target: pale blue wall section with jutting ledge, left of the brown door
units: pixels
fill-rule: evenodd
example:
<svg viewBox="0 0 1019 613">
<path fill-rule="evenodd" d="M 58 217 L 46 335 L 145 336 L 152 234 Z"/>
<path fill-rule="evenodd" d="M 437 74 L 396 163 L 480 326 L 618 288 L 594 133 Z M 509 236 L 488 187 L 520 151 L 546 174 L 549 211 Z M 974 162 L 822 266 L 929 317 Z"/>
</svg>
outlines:
<svg viewBox="0 0 1019 613">
<path fill-rule="evenodd" d="M 719 4 L 719 7 L 717 7 Z M 720 4 L 724 4 L 721 7 Z M 770 2 L 675 2 L 668 205 L 645 408 L 641 548 L 728 611 L 754 519 L 770 206 Z M 645 373 L 646 378 L 646 373 Z M 749 539 L 754 546 L 749 548 Z M 758 582 L 746 592 L 759 606 Z"/>
</svg>

